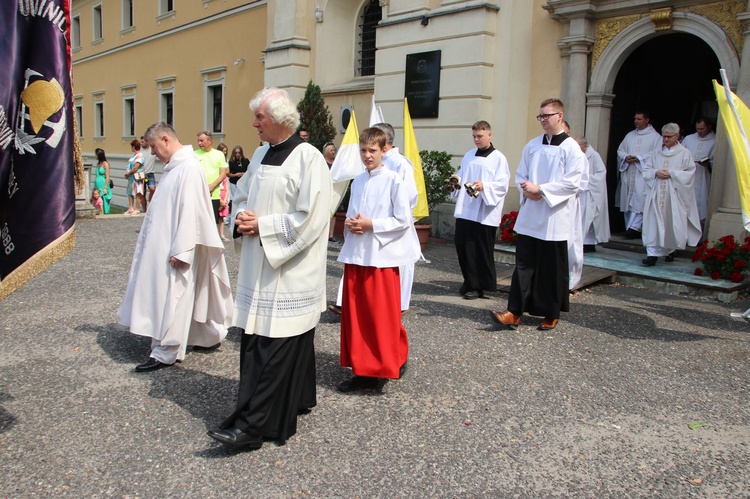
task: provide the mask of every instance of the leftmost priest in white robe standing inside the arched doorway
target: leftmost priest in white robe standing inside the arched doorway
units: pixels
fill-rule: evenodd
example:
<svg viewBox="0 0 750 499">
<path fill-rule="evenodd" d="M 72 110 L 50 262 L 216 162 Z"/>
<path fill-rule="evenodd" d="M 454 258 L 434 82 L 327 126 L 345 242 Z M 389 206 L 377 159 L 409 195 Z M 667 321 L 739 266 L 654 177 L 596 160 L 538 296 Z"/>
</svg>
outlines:
<svg viewBox="0 0 750 499">
<path fill-rule="evenodd" d="M 635 113 L 635 130 L 629 132 L 617 148 L 620 182 L 615 193 L 615 206 L 625 215 L 625 237 L 638 239 L 643 226 L 643 204 L 646 184 L 643 163 L 646 157 L 661 147 L 661 136 L 649 124 L 648 113 Z"/>
</svg>

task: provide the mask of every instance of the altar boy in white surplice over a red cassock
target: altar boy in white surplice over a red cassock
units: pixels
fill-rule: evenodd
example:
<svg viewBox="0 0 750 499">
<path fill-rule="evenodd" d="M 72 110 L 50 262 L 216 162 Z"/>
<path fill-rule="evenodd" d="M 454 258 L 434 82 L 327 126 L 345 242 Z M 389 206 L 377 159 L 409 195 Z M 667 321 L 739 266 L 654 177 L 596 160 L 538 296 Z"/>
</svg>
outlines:
<svg viewBox="0 0 750 499">
<path fill-rule="evenodd" d="M 383 167 L 385 144 L 386 135 L 377 128 L 359 137 L 367 171 L 352 181 L 338 258 L 344 263 L 341 365 L 353 373 L 338 385 L 341 392 L 399 378 L 409 354 L 398 267 L 419 259 L 419 244 L 407 187 Z"/>
</svg>

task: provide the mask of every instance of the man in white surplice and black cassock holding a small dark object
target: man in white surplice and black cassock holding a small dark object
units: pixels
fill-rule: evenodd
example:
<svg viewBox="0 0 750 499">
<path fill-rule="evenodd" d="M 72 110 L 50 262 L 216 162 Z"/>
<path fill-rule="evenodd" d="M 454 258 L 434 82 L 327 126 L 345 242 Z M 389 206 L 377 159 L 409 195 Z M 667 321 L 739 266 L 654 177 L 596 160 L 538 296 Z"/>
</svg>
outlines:
<svg viewBox="0 0 750 499">
<path fill-rule="evenodd" d="M 508 160 L 492 145 L 490 124 L 477 121 L 471 135 L 476 147 L 464 155 L 451 177 L 455 187 L 451 197 L 456 200 L 453 241 L 463 275 L 458 292 L 467 300 L 484 298 L 485 291 L 497 290 L 495 241 L 510 182 Z"/>
</svg>

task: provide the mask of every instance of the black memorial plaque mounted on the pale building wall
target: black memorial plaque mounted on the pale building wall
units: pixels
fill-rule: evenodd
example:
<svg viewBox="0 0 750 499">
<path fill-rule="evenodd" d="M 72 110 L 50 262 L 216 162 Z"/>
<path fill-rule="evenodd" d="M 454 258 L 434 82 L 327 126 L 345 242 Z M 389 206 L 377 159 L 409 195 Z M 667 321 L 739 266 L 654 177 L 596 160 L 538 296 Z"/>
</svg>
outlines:
<svg viewBox="0 0 750 499">
<path fill-rule="evenodd" d="M 406 55 L 406 86 L 412 118 L 437 118 L 440 107 L 440 50 Z"/>
</svg>

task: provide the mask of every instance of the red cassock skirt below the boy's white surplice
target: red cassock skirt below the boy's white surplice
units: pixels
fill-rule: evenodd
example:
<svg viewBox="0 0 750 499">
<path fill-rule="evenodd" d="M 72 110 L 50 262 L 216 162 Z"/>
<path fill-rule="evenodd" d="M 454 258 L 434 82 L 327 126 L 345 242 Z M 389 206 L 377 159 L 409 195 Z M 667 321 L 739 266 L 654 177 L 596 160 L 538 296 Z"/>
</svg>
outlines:
<svg viewBox="0 0 750 499">
<path fill-rule="evenodd" d="M 356 376 L 397 379 L 408 355 L 398 268 L 344 265 L 341 366 Z"/>
</svg>

